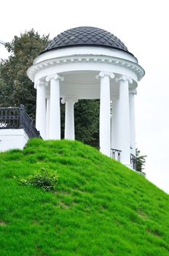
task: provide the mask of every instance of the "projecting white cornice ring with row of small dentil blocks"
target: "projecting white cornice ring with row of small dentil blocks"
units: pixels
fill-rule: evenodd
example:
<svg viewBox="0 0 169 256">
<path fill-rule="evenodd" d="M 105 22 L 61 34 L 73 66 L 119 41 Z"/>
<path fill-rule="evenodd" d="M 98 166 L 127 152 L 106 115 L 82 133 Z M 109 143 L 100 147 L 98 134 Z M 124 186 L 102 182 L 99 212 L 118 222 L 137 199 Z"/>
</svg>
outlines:
<svg viewBox="0 0 169 256">
<path fill-rule="evenodd" d="M 45 61 L 39 62 L 37 64 L 32 65 L 28 71 L 28 77 L 34 81 L 34 75 L 41 69 L 46 67 L 52 67 L 60 64 L 68 64 L 68 63 L 105 63 L 105 64 L 114 64 L 119 67 L 126 67 L 127 69 L 132 70 L 137 75 L 138 80 L 144 77 L 144 69 L 139 66 L 137 63 L 133 61 L 128 61 L 126 59 L 120 59 L 117 57 L 111 56 L 95 56 L 95 55 L 74 55 L 74 56 L 64 56 L 55 59 L 47 59 Z"/>
</svg>

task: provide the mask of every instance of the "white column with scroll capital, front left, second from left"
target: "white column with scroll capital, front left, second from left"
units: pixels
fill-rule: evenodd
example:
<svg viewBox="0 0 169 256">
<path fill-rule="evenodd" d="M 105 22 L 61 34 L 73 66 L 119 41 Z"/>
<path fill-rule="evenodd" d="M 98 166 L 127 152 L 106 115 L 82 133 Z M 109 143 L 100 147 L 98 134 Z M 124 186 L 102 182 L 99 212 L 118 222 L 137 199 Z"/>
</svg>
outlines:
<svg viewBox="0 0 169 256">
<path fill-rule="evenodd" d="M 50 81 L 50 140 L 60 140 L 60 78 L 58 74 L 46 78 Z"/>
</svg>

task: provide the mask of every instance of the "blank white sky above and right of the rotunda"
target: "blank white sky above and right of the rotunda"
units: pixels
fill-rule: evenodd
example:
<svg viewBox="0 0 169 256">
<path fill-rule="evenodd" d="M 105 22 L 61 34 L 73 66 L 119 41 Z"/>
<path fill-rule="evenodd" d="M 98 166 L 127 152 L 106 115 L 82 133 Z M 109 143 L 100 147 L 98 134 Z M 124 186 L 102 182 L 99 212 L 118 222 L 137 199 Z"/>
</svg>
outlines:
<svg viewBox="0 0 169 256">
<path fill-rule="evenodd" d="M 146 154 L 146 176 L 169 193 L 168 0 L 8 0 L 0 4 L 0 39 L 34 28 L 52 39 L 76 26 L 115 34 L 146 71 L 135 97 L 137 146 Z M 0 45 L 0 58 L 7 51 Z"/>
</svg>

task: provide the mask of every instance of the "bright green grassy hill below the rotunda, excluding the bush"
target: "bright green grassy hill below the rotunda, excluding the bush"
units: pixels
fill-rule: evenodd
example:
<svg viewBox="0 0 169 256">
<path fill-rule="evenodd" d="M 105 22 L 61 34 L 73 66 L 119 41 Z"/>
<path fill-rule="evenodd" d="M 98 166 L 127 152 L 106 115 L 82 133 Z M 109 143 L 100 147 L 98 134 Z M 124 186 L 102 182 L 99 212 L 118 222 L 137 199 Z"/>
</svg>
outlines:
<svg viewBox="0 0 169 256">
<path fill-rule="evenodd" d="M 23 186 L 42 167 L 55 192 Z M 169 255 L 169 196 L 77 141 L 30 140 L 0 154 L 1 256 Z"/>
</svg>

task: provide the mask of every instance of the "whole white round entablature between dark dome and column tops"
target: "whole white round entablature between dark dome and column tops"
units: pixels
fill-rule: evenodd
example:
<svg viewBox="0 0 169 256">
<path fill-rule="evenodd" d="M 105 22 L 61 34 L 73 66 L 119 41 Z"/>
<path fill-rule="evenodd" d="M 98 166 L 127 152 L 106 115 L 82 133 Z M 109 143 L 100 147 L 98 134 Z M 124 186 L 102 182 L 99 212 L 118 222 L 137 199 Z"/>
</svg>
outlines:
<svg viewBox="0 0 169 256">
<path fill-rule="evenodd" d="M 97 54 L 96 54 L 97 53 Z M 66 54 L 66 55 L 65 55 Z M 74 64 L 74 65 L 72 65 Z M 77 65 L 76 65 L 77 64 Z M 80 64 L 80 65 L 79 65 Z M 114 69 L 115 72 L 125 72 L 125 68 L 130 72 L 130 76 L 138 82 L 144 76 L 144 69 L 138 65 L 137 59 L 128 53 L 119 53 L 117 50 L 109 50 L 97 48 L 97 52 L 93 47 L 74 47 L 74 49 L 60 49 L 59 53 L 53 50 L 52 53 L 44 53 L 38 56 L 34 65 L 28 69 L 28 77 L 34 82 L 35 80 L 49 74 L 49 68 L 57 68 L 57 72 L 84 70 L 100 70 L 101 64 L 109 64 L 107 69 Z M 91 65 L 90 65 L 91 64 Z M 71 67 L 70 67 L 71 65 Z M 64 66 L 64 67 L 63 67 Z M 44 74 L 46 72 L 46 74 Z"/>
</svg>

